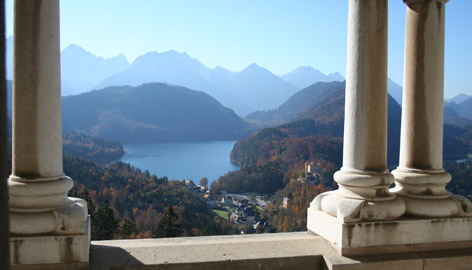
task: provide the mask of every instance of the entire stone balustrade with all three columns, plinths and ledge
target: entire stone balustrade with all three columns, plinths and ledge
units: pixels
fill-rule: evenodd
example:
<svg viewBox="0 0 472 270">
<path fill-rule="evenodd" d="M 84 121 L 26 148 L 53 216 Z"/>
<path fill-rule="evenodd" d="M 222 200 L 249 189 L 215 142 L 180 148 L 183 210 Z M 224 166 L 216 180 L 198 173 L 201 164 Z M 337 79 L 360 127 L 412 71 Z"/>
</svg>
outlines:
<svg viewBox="0 0 472 270">
<path fill-rule="evenodd" d="M 401 154 L 391 174 L 386 166 L 388 2 L 349 0 L 343 167 L 334 176 L 339 189 L 311 203 L 310 233 L 90 246 L 86 203 L 67 197 L 72 180 L 62 170 L 59 0 L 15 0 L 8 179 L 12 268 L 467 268 L 472 205 L 446 191 L 450 175 L 442 168 L 446 2 L 405 1 Z"/>
</svg>

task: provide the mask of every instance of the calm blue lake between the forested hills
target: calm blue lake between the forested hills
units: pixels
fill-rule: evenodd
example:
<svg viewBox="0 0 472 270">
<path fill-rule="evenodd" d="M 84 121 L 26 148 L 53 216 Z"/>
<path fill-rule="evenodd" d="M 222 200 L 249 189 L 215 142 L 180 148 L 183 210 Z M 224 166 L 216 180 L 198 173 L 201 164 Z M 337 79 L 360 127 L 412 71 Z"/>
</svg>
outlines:
<svg viewBox="0 0 472 270">
<path fill-rule="evenodd" d="M 192 179 L 198 185 L 202 177 L 207 177 L 211 183 L 226 172 L 239 169 L 229 160 L 235 143 L 125 144 L 126 153 L 121 160 L 159 177 Z"/>
</svg>

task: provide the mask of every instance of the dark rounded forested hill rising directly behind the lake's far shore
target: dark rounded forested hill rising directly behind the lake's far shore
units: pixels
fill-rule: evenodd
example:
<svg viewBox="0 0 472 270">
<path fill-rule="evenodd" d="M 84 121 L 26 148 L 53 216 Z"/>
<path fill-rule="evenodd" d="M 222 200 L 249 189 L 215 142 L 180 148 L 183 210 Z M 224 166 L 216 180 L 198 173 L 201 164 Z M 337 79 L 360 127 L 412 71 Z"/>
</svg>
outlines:
<svg viewBox="0 0 472 270">
<path fill-rule="evenodd" d="M 162 83 L 64 97 L 65 131 L 123 143 L 238 140 L 255 129 L 211 96 Z"/>
</svg>

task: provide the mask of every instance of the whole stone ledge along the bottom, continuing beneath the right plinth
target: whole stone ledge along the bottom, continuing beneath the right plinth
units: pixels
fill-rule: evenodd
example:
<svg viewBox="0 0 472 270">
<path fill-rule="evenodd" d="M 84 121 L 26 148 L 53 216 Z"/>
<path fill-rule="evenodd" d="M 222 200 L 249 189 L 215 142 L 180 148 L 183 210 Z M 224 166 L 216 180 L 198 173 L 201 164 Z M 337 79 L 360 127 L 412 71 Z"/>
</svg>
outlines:
<svg viewBox="0 0 472 270">
<path fill-rule="evenodd" d="M 93 241 L 90 270 L 470 269 L 472 249 L 341 256 L 308 232 Z"/>
</svg>

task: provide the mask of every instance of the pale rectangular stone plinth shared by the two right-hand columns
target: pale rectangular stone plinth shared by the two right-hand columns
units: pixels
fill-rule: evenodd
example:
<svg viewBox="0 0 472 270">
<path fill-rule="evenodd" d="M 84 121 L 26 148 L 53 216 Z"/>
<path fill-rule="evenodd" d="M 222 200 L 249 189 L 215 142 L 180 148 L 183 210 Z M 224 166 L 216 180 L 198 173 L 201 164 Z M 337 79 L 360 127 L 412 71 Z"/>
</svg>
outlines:
<svg viewBox="0 0 472 270">
<path fill-rule="evenodd" d="M 307 228 L 328 240 L 343 256 L 472 247 L 472 218 L 344 223 L 310 207 Z"/>
</svg>

